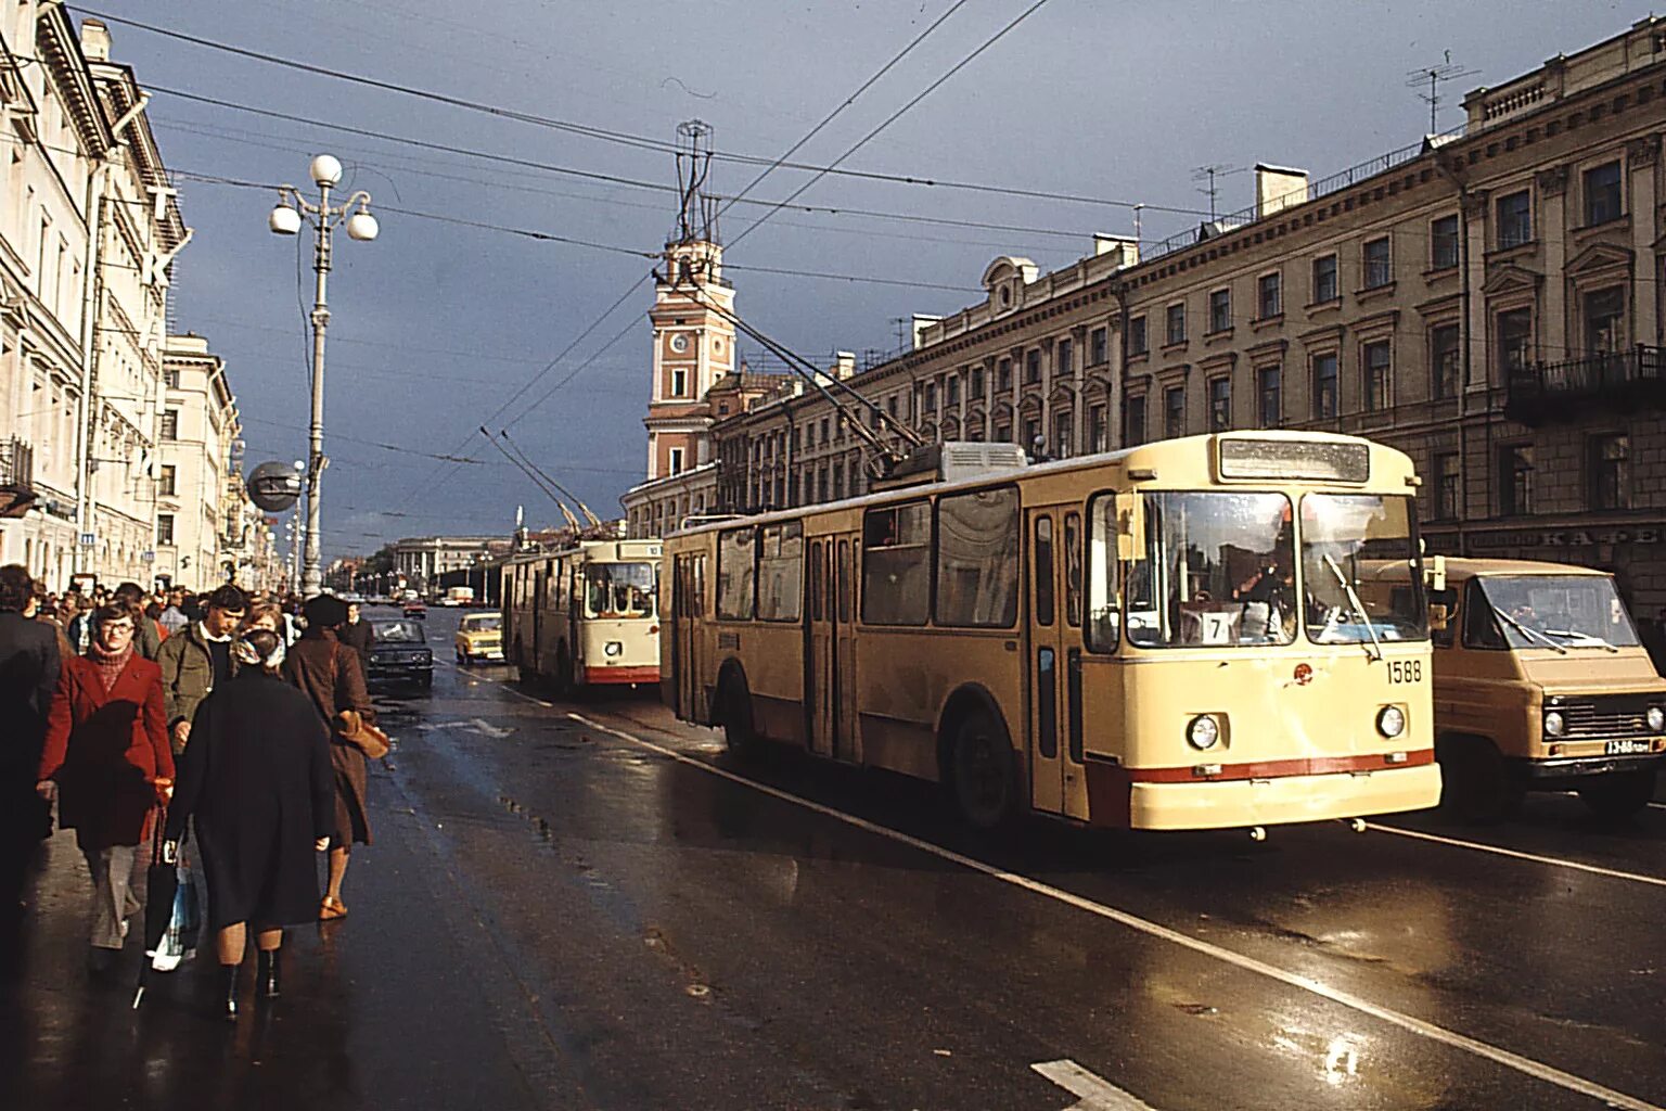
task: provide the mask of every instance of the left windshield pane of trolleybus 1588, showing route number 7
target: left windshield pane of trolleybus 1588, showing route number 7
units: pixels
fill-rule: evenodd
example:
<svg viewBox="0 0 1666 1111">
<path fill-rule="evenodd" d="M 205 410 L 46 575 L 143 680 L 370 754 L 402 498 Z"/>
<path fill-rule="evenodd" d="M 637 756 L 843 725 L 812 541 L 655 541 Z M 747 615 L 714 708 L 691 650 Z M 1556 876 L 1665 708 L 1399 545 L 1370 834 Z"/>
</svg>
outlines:
<svg viewBox="0 0 1666 1111">
<path fill-rule="evenodd" d="M 1296 636 L 1294 530 L 1281 493 L 1150 493 L 1146 546 L 1128 563 L 1128 641 L 1141 648 L 1288 645 Z M 1101 498 L 1096 515 L 1115 513 Z M 1116 523 L 1095 520 L 1095 535 Z"/>
</svg>

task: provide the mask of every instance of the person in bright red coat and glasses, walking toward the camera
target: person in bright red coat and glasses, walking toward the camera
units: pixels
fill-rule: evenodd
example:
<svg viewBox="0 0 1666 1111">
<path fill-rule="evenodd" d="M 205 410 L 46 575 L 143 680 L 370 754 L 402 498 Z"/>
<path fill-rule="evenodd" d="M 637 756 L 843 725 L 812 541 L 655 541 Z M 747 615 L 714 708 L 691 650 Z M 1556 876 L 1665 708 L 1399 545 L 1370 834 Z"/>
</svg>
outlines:
<svg viewBox="0 0 1666 1111">
<path fill-rule="evenodd" d="M 173 785 L 162 705 L 162 668 L 133 650 L 133 613 L 97 611 L 88 655 L 63 661 L 47 720 L 40 790 L 57 785 L 58 825 L 75 830 L 93 878 L 92 963 L 108 971 L 140 909 L 133 894 L 138 846 L 152 811 Z"/>
</svg>

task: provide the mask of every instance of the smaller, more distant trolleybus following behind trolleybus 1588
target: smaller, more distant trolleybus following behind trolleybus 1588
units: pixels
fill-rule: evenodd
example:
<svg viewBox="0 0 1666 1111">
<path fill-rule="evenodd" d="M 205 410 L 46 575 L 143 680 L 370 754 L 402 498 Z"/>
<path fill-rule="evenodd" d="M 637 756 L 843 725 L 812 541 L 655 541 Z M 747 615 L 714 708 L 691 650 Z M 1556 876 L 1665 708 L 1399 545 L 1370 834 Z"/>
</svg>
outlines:
<svg viewBox="0 0 1666 1111">
<path fill-rule="evenodd" d="M 660 681 L 658 540 L 585 540 L 503 565 L 503 645 L 558 691 Z"/>
</svg>

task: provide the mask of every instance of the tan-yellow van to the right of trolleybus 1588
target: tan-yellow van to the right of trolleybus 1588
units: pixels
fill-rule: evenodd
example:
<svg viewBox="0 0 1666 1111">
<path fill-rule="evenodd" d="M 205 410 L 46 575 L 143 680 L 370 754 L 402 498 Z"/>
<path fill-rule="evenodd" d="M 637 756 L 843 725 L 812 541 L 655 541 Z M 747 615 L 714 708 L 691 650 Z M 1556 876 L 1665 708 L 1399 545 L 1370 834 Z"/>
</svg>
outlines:
<svg viewBox="0 0 1666 1111">
<path fill-rule="evenodd" d="M 1441 805 L 1471 821 L 1509 815 L 1528 790 L 1578 791 L 1603 818 L 1646 806 L 1666 761 L 1666 681 L 1613 576 L 1524 560 L 1444 568 L 1429 591 Z"/>
</svg>

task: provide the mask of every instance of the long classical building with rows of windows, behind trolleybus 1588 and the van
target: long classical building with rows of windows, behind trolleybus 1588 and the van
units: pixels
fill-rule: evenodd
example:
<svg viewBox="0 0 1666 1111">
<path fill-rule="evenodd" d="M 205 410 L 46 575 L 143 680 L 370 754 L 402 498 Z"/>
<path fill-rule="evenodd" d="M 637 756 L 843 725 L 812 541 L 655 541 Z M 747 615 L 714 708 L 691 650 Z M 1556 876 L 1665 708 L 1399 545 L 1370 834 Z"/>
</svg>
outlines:
<svg viewBox="0 0 1666 1111">
<path fill-rule="evenodd" d="M 1666 20 L 1464 98 L 1464 128 L 1156 245 L 1098 237 L 850 385 L 925 438 L 1065 456 L 1226 428 L 1408 451 L 1431 551 L 1614 570 L 1666 605 Z M 865 420 L 875 421 L 870 413 Z M 716 508 L 866 488 L 816 395 L 718 420 Z"/>
</svg>

